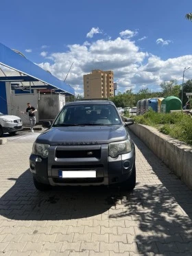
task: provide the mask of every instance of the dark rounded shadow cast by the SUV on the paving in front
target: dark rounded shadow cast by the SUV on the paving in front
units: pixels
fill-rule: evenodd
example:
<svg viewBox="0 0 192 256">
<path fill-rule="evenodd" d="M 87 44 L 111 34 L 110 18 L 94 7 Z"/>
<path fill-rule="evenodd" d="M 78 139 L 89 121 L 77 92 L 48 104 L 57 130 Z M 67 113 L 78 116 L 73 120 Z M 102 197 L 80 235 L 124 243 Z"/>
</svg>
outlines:
<svg viewBox="0 0 192 256">
<path fill-rule="evenodd" d="M 53 187 L 36 190 L 26 170 L 0 199 L 0 214 L 13 220 L 71 220 L 106 212 L 119 198 L 118 188 Z M 128 193 L 127 193 L 128 194 Z"/>
</svg>

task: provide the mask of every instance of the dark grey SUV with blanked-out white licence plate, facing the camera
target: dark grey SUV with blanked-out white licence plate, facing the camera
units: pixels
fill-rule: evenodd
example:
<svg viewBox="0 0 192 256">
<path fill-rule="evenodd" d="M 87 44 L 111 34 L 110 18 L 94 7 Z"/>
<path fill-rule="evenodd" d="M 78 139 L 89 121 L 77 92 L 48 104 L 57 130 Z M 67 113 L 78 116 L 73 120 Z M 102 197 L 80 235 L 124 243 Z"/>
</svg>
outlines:
<svg viewBox="0 0 192 256">
<path fill-rule="evenodd" d="M 34 142 L 29 158 L 34 185 L 121 185 L 134 189 L 135 148 L 115 104 L 82 100 L 66 104 Z"/>
</svg>

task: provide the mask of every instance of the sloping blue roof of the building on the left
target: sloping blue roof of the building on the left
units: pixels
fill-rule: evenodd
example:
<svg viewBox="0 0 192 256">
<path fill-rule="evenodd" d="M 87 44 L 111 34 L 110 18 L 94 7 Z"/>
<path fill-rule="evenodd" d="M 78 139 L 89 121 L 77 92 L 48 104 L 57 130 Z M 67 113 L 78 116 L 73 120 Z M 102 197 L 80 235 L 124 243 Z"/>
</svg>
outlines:
<svg viewBox="0 0 192 256">
<path fill-rule="evenodd" d="M 32 82 L 32 86 L 45 89 L 55 89 L 56 92 L 66 95 L 74 95 L 75 90 L 69 84 L 64 83 L 53 76 L 50 72 L 38 67 L 32 61 L 27 60 L 19 51 L 12 50 L 0 43 L 0 65 L 8 68 L 1 69 L 0 81 Z M 5 69 L 6 69 L 5 68 Z M 10 71 L 9 69 L 13 69 Z M 9 74 L 6 73 L 8 71 Z"/>
</svg>

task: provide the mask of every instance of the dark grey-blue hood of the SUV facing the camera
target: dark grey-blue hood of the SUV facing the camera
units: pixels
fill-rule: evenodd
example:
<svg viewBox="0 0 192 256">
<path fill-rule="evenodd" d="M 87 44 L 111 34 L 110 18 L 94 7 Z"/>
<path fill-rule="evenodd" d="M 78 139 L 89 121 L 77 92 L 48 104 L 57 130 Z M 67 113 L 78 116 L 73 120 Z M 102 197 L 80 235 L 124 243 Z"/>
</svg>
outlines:
<svg viewBox="0 0 192 256">
<path fill-rule="evenodd" d="M 128 132 L 121 126 L 69 126 L 52 127 L 36 139 L 49 145 L 94 145 L 123 141 Z"/>
</svg>

